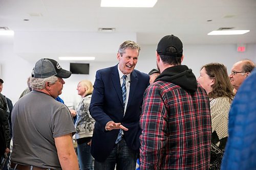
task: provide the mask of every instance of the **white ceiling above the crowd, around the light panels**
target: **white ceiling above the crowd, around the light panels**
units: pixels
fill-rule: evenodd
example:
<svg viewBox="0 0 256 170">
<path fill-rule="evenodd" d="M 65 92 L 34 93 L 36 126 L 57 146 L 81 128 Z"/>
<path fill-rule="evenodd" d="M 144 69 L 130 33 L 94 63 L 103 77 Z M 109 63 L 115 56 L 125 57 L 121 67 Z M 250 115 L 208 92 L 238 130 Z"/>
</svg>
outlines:
<svg viewBox="0 0 256 170">
<path fill-rule="evenodd" d="M 115 28 L 115 33 L 135 33 L 143 45 L 157 44 L 169 34 L 177 35 L 185 44 L 256 43 L 256 1 L 158 0 L 153 8 L 101 8 L 100 0 L 0 0 L 0 27 L 86 33 Z M 227 27 L 250 32 L 207 35 Z M 5 41 L 0 37 L 0 42 Z"/>
</svg>

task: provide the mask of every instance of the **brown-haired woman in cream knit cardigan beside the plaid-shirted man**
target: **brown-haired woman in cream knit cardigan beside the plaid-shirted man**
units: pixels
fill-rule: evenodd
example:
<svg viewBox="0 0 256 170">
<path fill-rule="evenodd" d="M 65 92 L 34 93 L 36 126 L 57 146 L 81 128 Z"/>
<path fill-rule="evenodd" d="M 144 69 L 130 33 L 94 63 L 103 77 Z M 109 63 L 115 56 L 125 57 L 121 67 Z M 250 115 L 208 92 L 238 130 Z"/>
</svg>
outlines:
<svg viewBox="0 0 256 170">
<path fill-rule="evenodd" d="M 210 169 L 220 169 L 227 137 L 228 112 L 234 98 L 233 87 L 223 64 L 210 63 L 202 66 L 198 83 L 210 99 L 211 153 Z"/>
</svg>

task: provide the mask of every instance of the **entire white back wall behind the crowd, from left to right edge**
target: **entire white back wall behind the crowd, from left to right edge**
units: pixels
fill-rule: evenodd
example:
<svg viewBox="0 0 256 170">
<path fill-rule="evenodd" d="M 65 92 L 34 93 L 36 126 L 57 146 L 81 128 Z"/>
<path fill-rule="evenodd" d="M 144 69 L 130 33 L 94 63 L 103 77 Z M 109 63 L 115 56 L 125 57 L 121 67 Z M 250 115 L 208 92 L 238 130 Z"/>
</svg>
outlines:
<svg viewBox="0 0 256 170">
<path fill-rule="evenodd" d="M 141 45 L 141 53 L 136 69 L 148 73 L 156 67 L 155 51 L 157 45 Z M 117 47 L 118 48 L 118 47 Z M 250 59 L 256 62 L 256 44 L 247 44 L 246 52 L 238 53 L 236 44 L 220 45 L 186 45 L 183 46 L 185 56 L 183 64 L 192 68 L 196 77 L 199 75 L 200 67 L 210 62 L 219 62 L 227 66 L 228 72 L 234 62 L 242 59 Z M 47 56 L 45 56 L 47 57 Z M 116 56 L 113 56 L 116 58 Z M 62 68 L 69 69 L 69 62 L 59 62 Z M 20 93 L 27 87 L 27 78 L 30 76 L 35 63 L 29 62 L 13 52 L 13 43 L 0 44 L 0 64 L 2 66 L 2 79 L 4 88 L 2 93 L 15 103 Z M 117 64 L 117 61 L 91 62 L 90 75 L 72 75 L 66 79 L 66 84 L 60 97 L 67 105 L 72 105 L 80 100 L 77 95 L 77 83 L 88 79 L 94 83 L 95 72 L 98 69 Z"/>
</svg>

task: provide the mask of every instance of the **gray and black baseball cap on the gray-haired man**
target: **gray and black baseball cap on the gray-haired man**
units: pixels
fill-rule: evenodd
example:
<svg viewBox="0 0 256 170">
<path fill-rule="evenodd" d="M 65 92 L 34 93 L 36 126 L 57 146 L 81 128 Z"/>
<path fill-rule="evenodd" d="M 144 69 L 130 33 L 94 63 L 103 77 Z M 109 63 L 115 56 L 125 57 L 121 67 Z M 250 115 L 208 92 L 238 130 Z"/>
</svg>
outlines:
<svg viewBox="0 0 256 170">
<path fill-rule="evenodd" d="M 53 59 L 42 58 L 35 63 L 32 70 L 32 77 L 35 78 L 48 78 L 56 76 L 59 78 L 69 78 L 72 72 L 62 69 L 59 63 Z"/>
</svg>

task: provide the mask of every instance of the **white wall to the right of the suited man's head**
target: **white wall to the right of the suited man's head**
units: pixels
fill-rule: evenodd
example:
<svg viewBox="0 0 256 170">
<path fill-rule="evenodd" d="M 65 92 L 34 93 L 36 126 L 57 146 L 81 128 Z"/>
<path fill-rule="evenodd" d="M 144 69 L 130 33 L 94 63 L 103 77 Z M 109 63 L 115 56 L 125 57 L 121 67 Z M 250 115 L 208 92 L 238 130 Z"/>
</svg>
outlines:
<svg viewBox="0 0 256 170">
<path fill-rule="evenodd" d="M 141 45 L 141 53 L 136 66 L 143 72 L 149 72 L 156 65 L 155 51 L 157 45 Z M 196 76 L 199 76 L 201 66 L 210 62 L 219 62 L 227 66 L 228 72 L 232 65 L 242 59 L 250 59 L 256 63 L 256 44 L 247 44 L 246 52 L 237 52 L 237 44 L 220 45 L 183 45 L 184 60 L 182 64 L 193 69 Z"/>
</svg>

